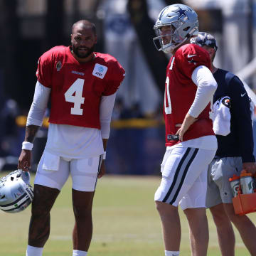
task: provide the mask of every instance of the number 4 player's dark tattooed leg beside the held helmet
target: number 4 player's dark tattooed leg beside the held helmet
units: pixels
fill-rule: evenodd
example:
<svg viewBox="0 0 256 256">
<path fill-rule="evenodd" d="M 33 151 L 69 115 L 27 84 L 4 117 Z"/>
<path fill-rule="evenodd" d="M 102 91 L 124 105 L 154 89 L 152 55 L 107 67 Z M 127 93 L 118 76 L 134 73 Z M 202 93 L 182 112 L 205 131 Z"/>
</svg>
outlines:
<svg viewBox="0 0 256 256">
<path fill-rule="evenodd" d="M 50 209 L 60 191 L 57 188 L 35 185 L 28 231 L 28 245 L 43 247 L 50 235 Z"/>
</svg>

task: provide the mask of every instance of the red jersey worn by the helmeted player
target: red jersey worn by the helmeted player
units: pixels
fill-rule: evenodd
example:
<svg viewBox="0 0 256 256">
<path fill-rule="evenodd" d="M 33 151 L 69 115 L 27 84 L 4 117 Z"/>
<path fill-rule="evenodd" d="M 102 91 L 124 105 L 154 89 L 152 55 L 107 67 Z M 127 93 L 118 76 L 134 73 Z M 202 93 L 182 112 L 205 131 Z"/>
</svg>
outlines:
<svg viewBox="0 0 256 256">
<path fill-rule="evenodd" d="M 210 69 L 208 52 L 195 44 L 187 44 L 178 48 L 167 66 L 164 94 L 166 146 L 178 143 L 171 140 L 170 135 L 176 134 L 178 124 L 182 124 L 195 99 L 197 86 L 191 77 L 193 70 L 200 65 Z M 184 134 L 183 141 L 206 135 L 214 135 L 213 122 L 210 119 L 210 103 L 199 114 L 198 121 L 194 122 Z"/>
</svg>

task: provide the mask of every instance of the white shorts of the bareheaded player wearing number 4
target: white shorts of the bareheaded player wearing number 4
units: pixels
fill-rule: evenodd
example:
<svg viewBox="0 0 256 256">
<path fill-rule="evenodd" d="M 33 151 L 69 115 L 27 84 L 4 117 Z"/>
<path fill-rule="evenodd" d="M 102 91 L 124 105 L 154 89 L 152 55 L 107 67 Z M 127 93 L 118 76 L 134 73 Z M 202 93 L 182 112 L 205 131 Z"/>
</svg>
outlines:
<svg viewBox="0 0 256 256">
<path fill-rule="evenodd" d="M 34 184 L 61 190 L 68 176 L 71 175 L 73 189 L 95 191 L 101 161 L 101 156 L 67 159 L 44 151 L 38 164 Z"/>
</svg>

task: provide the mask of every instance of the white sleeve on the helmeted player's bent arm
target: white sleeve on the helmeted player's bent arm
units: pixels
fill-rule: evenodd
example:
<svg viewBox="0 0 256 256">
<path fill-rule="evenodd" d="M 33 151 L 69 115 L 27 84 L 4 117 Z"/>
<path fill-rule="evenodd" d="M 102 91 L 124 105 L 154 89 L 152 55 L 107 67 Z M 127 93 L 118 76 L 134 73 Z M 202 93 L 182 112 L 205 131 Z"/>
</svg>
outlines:
<svg viewBox="0 0 256 256">
<path fill-rule="evenodd" d="M 198 117 L 206 108 L 210 100 L 213 100 L 213 94 L 217 89 L 217 82 L 213 78 L 210 70 L 204 66 L 198 66 L 192 73 L 192 80 L 198 86 L 196 96 L 188 110 L 192 117 Z"/>
</svg>

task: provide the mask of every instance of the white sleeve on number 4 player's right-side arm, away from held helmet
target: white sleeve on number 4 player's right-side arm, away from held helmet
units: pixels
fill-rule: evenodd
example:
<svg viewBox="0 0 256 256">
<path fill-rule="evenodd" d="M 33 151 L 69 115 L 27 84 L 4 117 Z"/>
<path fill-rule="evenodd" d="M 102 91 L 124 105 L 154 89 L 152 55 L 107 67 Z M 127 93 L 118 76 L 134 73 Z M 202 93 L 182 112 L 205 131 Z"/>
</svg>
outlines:
<svg viewBox="0 0 256 256">
<path fill-rule="evenodd" d="M 100 127 L 102 139 L 108 139 L 110 137 L 110 122 L 116 95 L 117 92 L 109 96 L 102 96 L 100 101 Z"/>
</svg>

